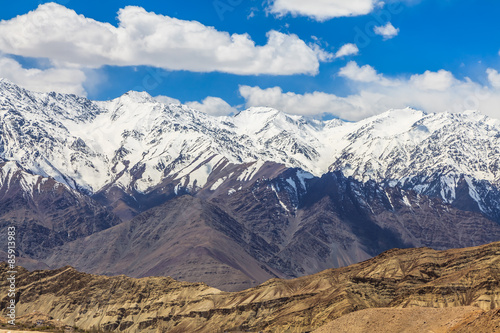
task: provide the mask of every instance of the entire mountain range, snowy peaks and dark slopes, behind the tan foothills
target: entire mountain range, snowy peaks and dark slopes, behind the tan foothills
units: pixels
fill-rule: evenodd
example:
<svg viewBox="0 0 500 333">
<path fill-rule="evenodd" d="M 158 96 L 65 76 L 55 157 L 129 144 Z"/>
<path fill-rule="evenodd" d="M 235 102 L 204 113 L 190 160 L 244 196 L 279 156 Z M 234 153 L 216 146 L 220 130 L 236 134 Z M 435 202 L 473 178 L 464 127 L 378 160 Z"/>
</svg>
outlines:
<svg viewBox="0 0 500 333">
<path fill-rule="evenodd" d="M 500 239 L 500 121 L 479 112 L 214 117 L 1 79 L 0 125 L 0 229 L 18 226 L 28 268 L 241 290 Z"/>
</svg>

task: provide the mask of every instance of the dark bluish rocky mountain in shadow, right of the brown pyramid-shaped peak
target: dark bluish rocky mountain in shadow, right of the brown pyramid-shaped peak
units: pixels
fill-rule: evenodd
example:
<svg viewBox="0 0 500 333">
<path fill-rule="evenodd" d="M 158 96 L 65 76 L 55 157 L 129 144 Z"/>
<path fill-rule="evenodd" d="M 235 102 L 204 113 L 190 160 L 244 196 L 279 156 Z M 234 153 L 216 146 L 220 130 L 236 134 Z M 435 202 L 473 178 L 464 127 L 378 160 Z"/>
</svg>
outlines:
<svg viewBox="0 0 500 333">
<path fill-rule="evenodd" d="M 210 198 L 277 246 L 269 265 L 290 277 L 347 266 L 394 247 L 444 250 L 500 239 L 497 223 L 438 198 L 361 183 L 340 172 L 306 180 L 300 173 L 288 169 Z"/>
</svg>

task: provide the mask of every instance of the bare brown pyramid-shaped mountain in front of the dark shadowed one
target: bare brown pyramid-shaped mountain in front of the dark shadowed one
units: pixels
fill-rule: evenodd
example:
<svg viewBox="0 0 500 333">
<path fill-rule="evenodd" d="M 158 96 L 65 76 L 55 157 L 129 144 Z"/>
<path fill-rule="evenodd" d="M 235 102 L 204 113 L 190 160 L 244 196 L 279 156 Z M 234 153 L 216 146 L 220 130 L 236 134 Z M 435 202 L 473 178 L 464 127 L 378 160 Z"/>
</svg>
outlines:
<svg viewBox="0 0 500 333">
<path fill-rule="evenodd" d="M 168 275 L 241 290 L 282 276 L 254 258 L 273 252 L 216 206 L 185 195 L 55 249 L 45 262 L 52 267 L 71 263 L 105 275 Z"/>
</svg>

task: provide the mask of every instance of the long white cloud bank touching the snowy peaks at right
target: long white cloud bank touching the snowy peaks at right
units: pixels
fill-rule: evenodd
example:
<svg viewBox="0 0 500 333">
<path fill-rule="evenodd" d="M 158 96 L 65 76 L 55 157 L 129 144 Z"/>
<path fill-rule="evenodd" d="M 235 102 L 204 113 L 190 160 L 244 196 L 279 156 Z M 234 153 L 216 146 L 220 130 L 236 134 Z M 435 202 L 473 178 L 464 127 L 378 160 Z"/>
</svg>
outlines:
<svg viewBox="0 0 500 333">
<path fill-rule="evenodd" d="M 492 86 L 499 81 L 498 72 L 488 70 Z M 387 78 L 368 65 L 351 62 L 340 70 L 354 93 L 341 97 L 324 92 L 296 94 L 274 87 L 241 86 L 240 94 L 246 106 L 267 105 L 292 114 L 334 114 L 347 120 L 359 120 L 392 108 L 411 106 L 426 112 L 463 112 L 480 110 L 500 118 L 498 90 L 472 82 L 458 80 L 450 72 L 427 71 L 407 78 Z M 494 83 L 496 82 L 496 83 Z"/>
</svg>

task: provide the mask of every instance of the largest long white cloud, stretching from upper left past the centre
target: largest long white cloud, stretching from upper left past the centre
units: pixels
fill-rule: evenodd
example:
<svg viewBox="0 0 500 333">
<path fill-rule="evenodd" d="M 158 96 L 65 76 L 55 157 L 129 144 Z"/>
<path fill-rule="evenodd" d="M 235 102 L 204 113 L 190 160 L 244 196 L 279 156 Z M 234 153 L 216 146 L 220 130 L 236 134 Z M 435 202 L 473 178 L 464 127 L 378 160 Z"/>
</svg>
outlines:
<svg viewBox="0 0 500 333">
<path fill-rule="evenodd" d="M 0 22 L 0 51 L 64 66 L 146 65 L 241 75 L 316 74 L 318 58 L 326 56 L 293 34 L 269 31 L 267 44 L 258 46 L 248 34 L 230 35 L 141 7 L 120 9 L 118 21 L 115 27 L 55 3 L 43 4 Z"/>
</svg>

